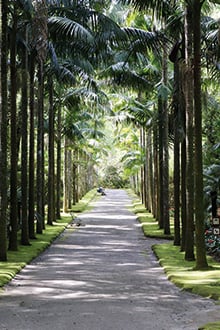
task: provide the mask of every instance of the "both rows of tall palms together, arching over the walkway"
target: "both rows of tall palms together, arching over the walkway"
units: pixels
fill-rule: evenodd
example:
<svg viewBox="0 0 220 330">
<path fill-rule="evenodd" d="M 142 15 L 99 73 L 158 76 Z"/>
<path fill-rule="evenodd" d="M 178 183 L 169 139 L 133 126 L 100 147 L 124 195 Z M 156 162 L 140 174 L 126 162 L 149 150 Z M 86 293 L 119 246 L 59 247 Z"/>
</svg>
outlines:
<svg viewBox="0 0 220 330">
<path fill-rule="evenodd" d="M 161 31 L 150 30 L 151 20 L 143 24 L 140 19 L 138 24 L 144 28 L 121 28 L 103 14 L 111 5 L 107 1 L 1 2 L 1 260 L 7 259 L 7 210 L 9 248 L 16 250 L 19 202 L 22 244 L 29 244 L 35 230 L 44 229 L 45 214 L 48 224 L 60 217 L 61 196 L 66 211 L 93 187 L 94 140 L 102 138 L 102 118 L 109 111 L 106 94 L 129 88 L 136 91 L 137 100 L 136 109 L 134 104 L 128 108 L 133 123 L 141 127 L 140 141 L 146 149 L 142 198 L 166 234 L 170 233 L 168 101 L 173 91 L 175 244 L 181 243 L 186 258 L 194 259 L 195 207 L 197 268 L 207 267 L 201 215 L 201 38 L 197 34 L 201 26 L 197 14 L 203 3 L 118 2 L 153 11 Z M 172 86 L 168 55 L 174 66 Z M 209 61 L 213 63 L 214 55 Z M 103 81 L 110 83 L 104 86 L 105 93 L 100 87 Z M 155 96 L 153 105 L 146 102 Z M 157 109 L 153 126 L 149 125 L 152 109 L 154 113 Z"/>
</svg>

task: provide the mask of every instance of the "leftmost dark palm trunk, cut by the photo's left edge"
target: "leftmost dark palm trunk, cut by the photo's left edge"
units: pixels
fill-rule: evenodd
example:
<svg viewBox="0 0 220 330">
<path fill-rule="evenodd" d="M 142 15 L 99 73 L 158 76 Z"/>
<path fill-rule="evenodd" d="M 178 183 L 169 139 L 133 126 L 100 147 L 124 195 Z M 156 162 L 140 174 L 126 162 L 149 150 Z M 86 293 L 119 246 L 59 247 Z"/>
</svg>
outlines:
<svg viewBox="0 0 220 330">
<path fill-rule="evenodd" d="M 7 260 L 7 18 L 8 0 L 1 0 L 1 90 L 0 90 L 0 261 Z M 2 47 L 4 45 L 4 47 Z"/>
</svg>

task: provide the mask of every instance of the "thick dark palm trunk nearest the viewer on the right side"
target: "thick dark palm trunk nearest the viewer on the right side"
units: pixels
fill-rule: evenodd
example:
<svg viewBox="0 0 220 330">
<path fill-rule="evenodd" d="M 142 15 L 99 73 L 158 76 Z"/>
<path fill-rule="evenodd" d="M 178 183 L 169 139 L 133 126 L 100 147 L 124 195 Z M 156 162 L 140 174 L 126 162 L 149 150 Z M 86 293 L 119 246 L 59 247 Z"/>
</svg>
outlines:
<svg viewBox="0 0 220 330">
<path fill-rule="evenodd" d="M 203 207 L 202 168 L 202 105 L 201 105 L 201 6 L 200 0 L 193 1 L 194 32 L 194 104 L 195 104 L 195 229 L 196 268 L 208 267 L 205 249 L 205 223 Z"/>
</svg>

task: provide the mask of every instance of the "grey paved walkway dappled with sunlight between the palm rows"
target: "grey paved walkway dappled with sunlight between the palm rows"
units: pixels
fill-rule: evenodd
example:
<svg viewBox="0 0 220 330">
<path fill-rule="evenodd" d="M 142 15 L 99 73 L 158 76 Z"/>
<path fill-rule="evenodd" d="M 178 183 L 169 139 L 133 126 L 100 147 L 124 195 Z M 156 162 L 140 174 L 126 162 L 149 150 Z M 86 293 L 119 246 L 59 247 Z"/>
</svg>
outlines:
<svg viewBox="0 0 220 330">
<path fill-rule="evenodd" d="M 127 210 L 108 190 L 0 295 L 0 330 L 196 330 L 217 318 L 208 300 L 167 281 Z"/>
</svg>

